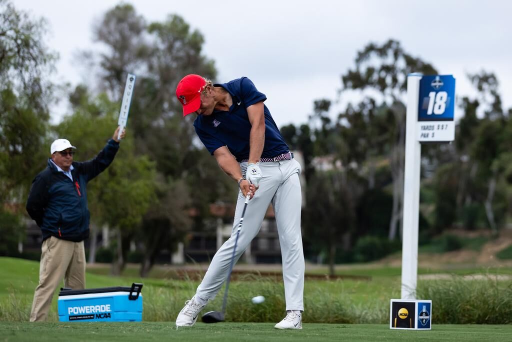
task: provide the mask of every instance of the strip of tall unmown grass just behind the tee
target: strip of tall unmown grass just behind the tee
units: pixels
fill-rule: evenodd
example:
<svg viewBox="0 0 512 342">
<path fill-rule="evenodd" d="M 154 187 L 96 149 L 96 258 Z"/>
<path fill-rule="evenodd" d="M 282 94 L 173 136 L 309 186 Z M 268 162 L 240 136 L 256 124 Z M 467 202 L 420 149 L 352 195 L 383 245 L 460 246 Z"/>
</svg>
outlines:
<svg viewBox="0 0 512 342">
<path fill-rule="evenodd" d="M 282 281 L 250 275 L 252 279 L 232 281 L 229 288 L 226 321 L 277 322 L 285 315 Z M 197 280 L 160 280 L 144 285 L 143 320 L 174 322 L 184 301 L 194 295 Z M 388 289 L 383 287 L 382 299 L 361 300 L 351 296 L 353 289 L 328 291 L 329 286 L 314 283 L 304 295 L 304 323 L 385 324 L 389 319 Z M 511 324 L 512 282 L 486 276 L 468 278 L 453 276 L 449 280 L 422 281 L 418 298 L 431 299 L 435 324 Z M 222 308 L 224 291 L 208 303 L 203 312 Z M 265 296 L 262 304 L 252 304 L 251 298 Z M 0 320 L 28 320 L 32 296 L 9 289 L 0 298 Z M 57 321 L 56 298 L 48 317 Z"/>
</svg>

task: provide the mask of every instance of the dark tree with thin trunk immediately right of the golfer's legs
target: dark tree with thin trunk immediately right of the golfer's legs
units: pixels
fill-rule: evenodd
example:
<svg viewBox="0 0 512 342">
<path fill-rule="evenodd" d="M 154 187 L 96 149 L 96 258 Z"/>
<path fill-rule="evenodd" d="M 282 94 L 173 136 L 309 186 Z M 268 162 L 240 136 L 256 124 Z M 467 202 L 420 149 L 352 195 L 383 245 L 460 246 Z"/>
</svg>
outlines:
<svg viewBox="0 0 512 342">
<path fill-rule="evenodd" d="M 305 225 L 308 241 L 316 245 L 316 249 L 323 250 L 319 247 L 322 245 L 327 247 L 329 272 L 334 275 L 337 249 L 350 249 L 357 227 L 356 206 L 366 182 L 356 170 L 361 140 L 352 132 L 357 132 L 357 127 L 341 124 L 341 117 L 333 123 L 328 115 L 330 105 L 328 99 L 315 100 L 310 116 L 314 155 L 326 157 L 330 165 L 327 170 L 316 170 L 308 179 Z"/>
</svg>

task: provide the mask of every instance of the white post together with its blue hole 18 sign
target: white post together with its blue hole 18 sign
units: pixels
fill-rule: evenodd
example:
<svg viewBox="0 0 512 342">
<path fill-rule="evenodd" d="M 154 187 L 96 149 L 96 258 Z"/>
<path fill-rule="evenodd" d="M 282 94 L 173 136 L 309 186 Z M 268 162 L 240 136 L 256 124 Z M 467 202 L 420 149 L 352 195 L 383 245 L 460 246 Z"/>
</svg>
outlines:
<svg viewBox="0 0 512 342">
<path fill-rule="evenodd" d="M 416 299 L 418 279 L 419 186 L 421 144 L 455 138 L 455 78 L 407 77 L 406 156 L 403 179 L 401 299 Z"/>
</svg>

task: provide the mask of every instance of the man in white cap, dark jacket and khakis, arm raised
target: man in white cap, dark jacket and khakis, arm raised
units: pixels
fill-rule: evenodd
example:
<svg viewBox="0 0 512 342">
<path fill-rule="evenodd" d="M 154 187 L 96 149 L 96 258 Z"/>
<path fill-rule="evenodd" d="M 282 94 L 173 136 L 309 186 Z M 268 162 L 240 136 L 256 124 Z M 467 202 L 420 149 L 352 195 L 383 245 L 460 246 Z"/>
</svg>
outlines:
<svg viewBox="0 0 512 342">
<path fill-rule="evenodd" d="M 88 162 L 73 162 L 67 139 L 55 140 L 48 167 L 32 182 L 27 212 L 42 232 L 39 285 L 35 289 L 30 321 L 46 320 L 53 293 L 64 279 L 74 290 L 86 286 L 86 253 L 83 240 L 89 237 L 87 183 L 105 170 L 119 149 L 119 127 L 98 155 Z M 125 131 L 121 133 L 121 138 Z"/>
</svg>

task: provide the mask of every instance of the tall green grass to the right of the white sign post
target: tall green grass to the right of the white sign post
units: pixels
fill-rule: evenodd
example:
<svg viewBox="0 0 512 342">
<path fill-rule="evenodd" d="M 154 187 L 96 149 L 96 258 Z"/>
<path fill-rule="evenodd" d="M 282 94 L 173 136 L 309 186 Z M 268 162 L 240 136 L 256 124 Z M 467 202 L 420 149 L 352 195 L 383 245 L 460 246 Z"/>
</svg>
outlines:
<svg viewBox="0 0 512 342">
<path fill-rule="evenodd" d="M 432 299 L 433 322 L 438 324 L 512 323 L 512 281 L 497 275 L 453 276 L 426 281 L 418 297 Z"/>
</svg>

